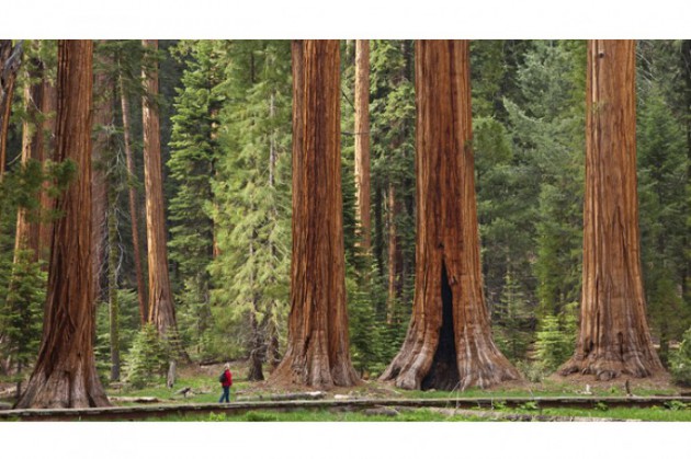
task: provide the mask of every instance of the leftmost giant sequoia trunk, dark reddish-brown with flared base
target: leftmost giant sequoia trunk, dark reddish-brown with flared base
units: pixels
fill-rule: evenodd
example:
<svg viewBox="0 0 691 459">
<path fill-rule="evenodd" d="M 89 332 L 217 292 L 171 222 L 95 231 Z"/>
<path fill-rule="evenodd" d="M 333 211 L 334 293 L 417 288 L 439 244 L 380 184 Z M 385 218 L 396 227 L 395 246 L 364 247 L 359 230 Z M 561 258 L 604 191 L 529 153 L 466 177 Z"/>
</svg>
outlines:
<svg viewBox="0 0 691 459">
<path fill-rule="evenodd" d="M 18 408 L 109 404 L 93 355 L 91 255 L 91 41 L 58 43 L 57 159 L 78 174 L 56 202 L 41 351 Z"/>
</svg>

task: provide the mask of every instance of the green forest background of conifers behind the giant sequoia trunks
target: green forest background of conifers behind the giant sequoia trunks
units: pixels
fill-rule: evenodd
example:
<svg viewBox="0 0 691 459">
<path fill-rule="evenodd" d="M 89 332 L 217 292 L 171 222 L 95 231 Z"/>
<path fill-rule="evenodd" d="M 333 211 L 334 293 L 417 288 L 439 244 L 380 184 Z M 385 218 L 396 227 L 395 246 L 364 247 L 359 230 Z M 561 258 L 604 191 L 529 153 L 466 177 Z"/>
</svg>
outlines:
<svg viewBox="0 0 691 459">
<path fill-rule="evenodd" d="M 400 348 L 412 303 L 415 49 L 412 41 L 371 42 L 366 253 L 355 219 L 355 44 L 341 47 L 351 356 L 362 376 L 375 377 Z M 0 377 L 15 381 L 27 377 L 41 341 L 49 250 L 15 253 L 18 210 L 34 222 L 56 218 L 37 191 L 47 179 L 55 179 L 52 188 L 65 186 L 73 173 L 69 164 L 20 161 L 22 136 L 53 116 L 26 103 L 24 88 L 55 79 L 56 43 L 25 41 L 23 49 L 0 183 Z M 690 49 L 689 42 L 641 41 L 636 56 L 642 265 L 652 333 L 666 365 L 691 326 Z M 487 307 L 497 345 L 529 379 L 539 379 L 568 358 L 577 331 L 586 43 L 474 41 L 471 58 Z M 285 349 L 290 308 L 291 44 L 160 41 L 151 51 L 138 41 L 109 41 L 94 54 L 94 113 L 103 116 L 94 116 L 92 159 L 105 191 L 93 216 L 102 248 L 100 374 L 120 379 L 113 367 L 122 365 L 122 379 L 145 383 L 167 365 L 167 344 L 141 326 L 147 289 L 138 291 L 134 250 L 136 241 L 146 273 L 141 100 L 151 94 L 141 68 L 152 62 L 159 66 L 155 103 L 180 344 L 195 362 L 247 358 L 270 369 Z M 134 234 L 131 191 L 140 221 Z"/>
</svg>

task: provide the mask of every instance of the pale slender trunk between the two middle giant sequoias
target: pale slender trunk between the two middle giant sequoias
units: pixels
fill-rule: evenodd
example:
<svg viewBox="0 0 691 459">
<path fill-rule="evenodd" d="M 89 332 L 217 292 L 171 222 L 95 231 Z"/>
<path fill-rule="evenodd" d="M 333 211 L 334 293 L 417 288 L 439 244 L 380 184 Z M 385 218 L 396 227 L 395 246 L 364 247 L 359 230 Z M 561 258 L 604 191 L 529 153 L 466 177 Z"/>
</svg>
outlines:
<svg viewBox="0 0 691 459">
<path fill-rule="evenodd" d="M 370 41 L 355 41 L 355 218 L 362 249 L 370 252 Z"/>
</svg>

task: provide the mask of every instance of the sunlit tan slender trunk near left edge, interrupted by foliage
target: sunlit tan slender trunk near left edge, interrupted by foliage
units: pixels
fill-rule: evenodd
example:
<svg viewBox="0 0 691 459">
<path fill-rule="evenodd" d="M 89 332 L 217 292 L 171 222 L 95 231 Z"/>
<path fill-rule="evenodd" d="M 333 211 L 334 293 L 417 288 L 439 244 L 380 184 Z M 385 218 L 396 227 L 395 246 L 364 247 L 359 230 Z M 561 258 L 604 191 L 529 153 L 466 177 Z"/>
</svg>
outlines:
<svg viewBox="0 0 691 459">
<path fill-rule="evenodd" d="M 22 134 L 22 165 L 26 167 L 29 161 L 39 161 L 43 153 L 43 133 L 41 131 L 39 113 L 43 106 L 43 62 L 33 59 L 31 70 L 26 71 L 26 78 L 32 83 L 24 87 L 24 105 L 26 118 L 23 122 Z M 35 82 L 38 80 L 38 82 Z M 18 262 L 21 251 L 31 250 L 33 252 L 31 261 L 38 261 L 39 228 L 36 216 L 30 215 L 30 209 L 20 207 L 16 211 L 16 233 L 14 238 L 14 263 Z"/>
</svg>

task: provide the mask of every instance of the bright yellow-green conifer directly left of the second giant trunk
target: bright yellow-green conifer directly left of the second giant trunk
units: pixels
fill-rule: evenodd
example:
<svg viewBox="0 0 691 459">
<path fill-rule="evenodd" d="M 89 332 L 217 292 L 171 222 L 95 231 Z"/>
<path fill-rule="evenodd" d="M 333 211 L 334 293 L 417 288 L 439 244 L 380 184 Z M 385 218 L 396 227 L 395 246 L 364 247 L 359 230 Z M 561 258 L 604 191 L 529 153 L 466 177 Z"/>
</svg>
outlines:
<svg viewBox="0 0 691 459">
<path fill-rule="evenodd" d="M 218 255 L 211 265 L 215 348 L 277 360 L 291 255 L 290 42 L 233 42 L 226 53 L 213 180 Z M 261 379 L 260 374 L 257 378 Z"/>
</svg>

